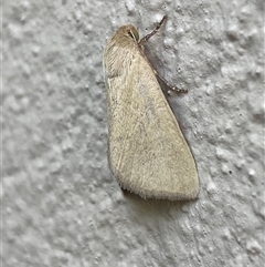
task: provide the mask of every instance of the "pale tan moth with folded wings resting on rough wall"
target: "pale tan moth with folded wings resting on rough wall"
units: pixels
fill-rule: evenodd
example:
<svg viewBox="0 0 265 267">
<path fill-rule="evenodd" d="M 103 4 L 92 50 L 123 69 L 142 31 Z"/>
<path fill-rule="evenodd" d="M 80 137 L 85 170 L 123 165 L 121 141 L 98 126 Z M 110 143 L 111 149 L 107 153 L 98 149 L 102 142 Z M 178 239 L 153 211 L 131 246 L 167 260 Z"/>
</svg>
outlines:
<svg viewBox="0 0 265 267">
<path fill-rule="evenodd" d="M 144 198 L 194 199 L 193 155 L 144 51 L 165 20 L 141 40 L 123 25 L 106 43 L 108 162 L 119 185 Z"/>
</svg>

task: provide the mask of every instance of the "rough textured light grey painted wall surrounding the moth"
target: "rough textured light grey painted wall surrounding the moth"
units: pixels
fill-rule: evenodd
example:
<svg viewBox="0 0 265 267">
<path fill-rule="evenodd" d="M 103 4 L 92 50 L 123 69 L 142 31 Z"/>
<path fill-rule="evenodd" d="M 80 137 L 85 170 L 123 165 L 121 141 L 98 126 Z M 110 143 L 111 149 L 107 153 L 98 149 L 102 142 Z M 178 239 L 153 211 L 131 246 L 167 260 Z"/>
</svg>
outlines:
<svg viewBox="0 0 265 267">
<path fill-rule="evenodd" d="M 174 3 L 172 3 L 174 2 Z M 264 256 L 264 3 L 6 1 L 3 266 L 256 266 Z M 110 176 L 102 54 L 142 34 L 197 160 L 197 202 L 145 201 Z M 173 163 L 172 163 L 173 164 Z"/>
</svg>

